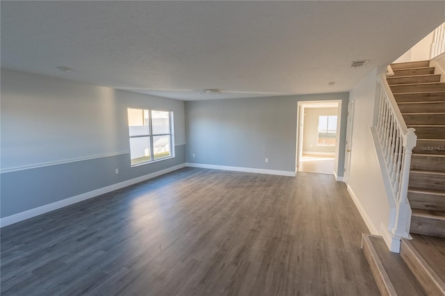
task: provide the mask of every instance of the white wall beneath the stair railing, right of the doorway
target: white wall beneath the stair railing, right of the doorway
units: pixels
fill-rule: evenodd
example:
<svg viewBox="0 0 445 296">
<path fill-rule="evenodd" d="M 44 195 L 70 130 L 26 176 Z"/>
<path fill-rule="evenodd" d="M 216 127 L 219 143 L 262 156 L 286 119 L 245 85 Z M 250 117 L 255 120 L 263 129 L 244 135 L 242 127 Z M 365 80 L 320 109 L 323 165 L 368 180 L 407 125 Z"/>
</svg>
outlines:
<svg viewBox="0 0 445 296">
<path fill-rule="evenodd" d="M 377 69 L 357 83 L 349 97 L 355 108 L 348 190 L 373 234 L 389 220 L 389 202 L 371 135 L 376 79 Z"/>
</svg>

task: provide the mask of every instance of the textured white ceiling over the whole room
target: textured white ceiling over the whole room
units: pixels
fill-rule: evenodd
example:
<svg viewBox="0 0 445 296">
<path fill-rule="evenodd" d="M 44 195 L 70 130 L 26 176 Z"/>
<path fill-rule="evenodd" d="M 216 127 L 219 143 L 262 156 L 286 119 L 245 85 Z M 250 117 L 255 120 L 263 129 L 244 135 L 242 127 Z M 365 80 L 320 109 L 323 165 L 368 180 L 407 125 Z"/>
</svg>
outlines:
<svg viewBox="0 0 445 296">
<path fill-rule="evenodd" d="M 1 1 L 1 66 L 183 100 L 343 92 L 444 20 L 445 1 Z"/>
</svg>

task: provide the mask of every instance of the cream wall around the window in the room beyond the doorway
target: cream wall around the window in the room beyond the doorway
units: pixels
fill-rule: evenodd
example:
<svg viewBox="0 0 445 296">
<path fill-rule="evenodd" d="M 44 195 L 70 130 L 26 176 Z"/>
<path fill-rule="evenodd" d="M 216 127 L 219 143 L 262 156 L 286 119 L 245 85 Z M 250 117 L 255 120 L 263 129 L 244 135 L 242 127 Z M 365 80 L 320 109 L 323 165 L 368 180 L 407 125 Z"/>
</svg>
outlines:
<svg viewBox="0 0 445 296">
<path fill-rule="evenodd" d="M 335 146 L 318 146 L 318 117 L 337 115 L 338 108 L 305 108 L 303 124 L 303 153 L 321 152 L 335 155 Z"/>
</svg>

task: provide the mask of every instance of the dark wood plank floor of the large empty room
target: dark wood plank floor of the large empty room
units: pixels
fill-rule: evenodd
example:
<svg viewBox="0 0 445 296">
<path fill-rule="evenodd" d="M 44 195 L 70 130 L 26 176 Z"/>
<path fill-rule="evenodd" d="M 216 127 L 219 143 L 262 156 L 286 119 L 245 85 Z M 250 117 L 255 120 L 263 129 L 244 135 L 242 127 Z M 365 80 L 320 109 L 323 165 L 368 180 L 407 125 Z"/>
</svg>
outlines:
<svg viewBox="0 0 445 296">
<path fill-rule="evenodd" d="M 184 168 L 1 229 L 1 295 L 380 295 L 343 183 Z"/>
</svg>

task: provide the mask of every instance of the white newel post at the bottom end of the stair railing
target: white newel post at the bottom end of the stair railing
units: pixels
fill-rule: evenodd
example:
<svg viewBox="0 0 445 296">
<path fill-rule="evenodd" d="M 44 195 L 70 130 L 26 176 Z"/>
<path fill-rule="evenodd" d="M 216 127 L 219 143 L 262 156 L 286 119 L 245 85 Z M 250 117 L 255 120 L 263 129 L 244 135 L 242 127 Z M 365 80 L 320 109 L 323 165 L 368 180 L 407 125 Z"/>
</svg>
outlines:
<svg viewBox="0 0 445 296">
<path fill-rule="evenodd" d="M 396 224 L 394 225 L 393 234 L 407 238 L 410 236 L 411 224 L 411 207 L 408 204 L 408 182 L 410 181 L 410 167 L 412 149 L 416 146 L 417 136 L 415 129 L 407 129 L 407 133 L 403 135 L 403 163 L 401 173 L 400 190 L 397 197 L 396 208 Z"/>
</svg>

